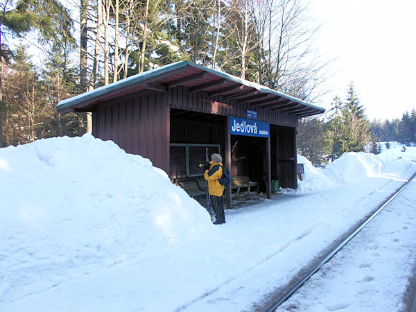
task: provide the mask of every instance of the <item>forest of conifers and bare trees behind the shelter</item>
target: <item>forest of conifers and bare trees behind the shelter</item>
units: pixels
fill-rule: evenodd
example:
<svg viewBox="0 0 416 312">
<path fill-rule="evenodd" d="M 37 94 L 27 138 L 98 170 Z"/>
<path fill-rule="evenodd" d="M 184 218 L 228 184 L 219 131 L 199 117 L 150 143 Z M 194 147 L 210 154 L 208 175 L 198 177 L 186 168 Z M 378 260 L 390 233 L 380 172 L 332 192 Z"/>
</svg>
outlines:
<svg viewBox="0 0 416 312">
<path fill-rule="evenodd" d="M 0 0 L 0 147 L 91 131 L 64 98 L 165 64 L 190 60 L 318 103 L 331 60 L 301 0 Z M 330 107 L 329 109 L 327 107 Z M 370 121 L 354 83 L 321 116 L 300 121 L 313 164 L 380 142 L 416 143 L 416 111 Z"/>
</svg>

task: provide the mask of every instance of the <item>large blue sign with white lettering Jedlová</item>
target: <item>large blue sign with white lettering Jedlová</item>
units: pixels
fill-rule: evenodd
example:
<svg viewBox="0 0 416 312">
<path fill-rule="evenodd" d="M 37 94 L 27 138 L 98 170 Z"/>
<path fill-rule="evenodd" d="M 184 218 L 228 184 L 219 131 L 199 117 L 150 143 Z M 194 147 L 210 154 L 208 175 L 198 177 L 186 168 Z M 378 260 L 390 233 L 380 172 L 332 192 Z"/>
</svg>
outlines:
<svg viewBox="0 0 416 312">
<path fill-rule="evenodd" d="M 270 123 L 229 116 L 229 132 L 248 137 L 270 137 Z"/>
</svg>

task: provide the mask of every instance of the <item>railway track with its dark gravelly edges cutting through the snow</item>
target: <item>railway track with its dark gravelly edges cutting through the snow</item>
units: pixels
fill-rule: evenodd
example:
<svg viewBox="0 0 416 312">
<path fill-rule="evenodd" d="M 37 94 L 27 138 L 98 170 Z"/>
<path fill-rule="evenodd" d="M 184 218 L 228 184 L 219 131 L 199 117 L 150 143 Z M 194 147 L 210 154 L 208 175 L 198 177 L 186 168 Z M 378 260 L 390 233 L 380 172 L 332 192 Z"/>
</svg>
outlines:
<svg viewBox="0 0 416 312">
<path fill-rule="evenodd" d="M 266 304 L 266 307 L 263 307 L 263 309 L 258 309 L 258 310 L 267 311 L 267 312 L 275 311 L 275 309 L 277 309 L 281 304 L 283 304 L 286 300 L 288 300 L 298 289 L 300 289 L 303 286 L 303 284 L 312 275 L 318 272 L 318 270 L 320 270 L 320 268 L 322 268 L 322 266 L 324 266 L 325 263 L 327 263 L 339 250 L 341 250 L 349 241 L 351 241 L 354 238 L 354 236 L 358 234 L 358 232 L 361 232 L 361 230 L 368 223 L 370 223 L 370 221 L 373 218 L 375 218 L 377 214 L 379 214 L 380 211 L 382 211 L 394 198 L 396 198 L 399 195 L 399 193 L 401 193 L 401 191 L 405 189 L 408 183 L 412 181 L 413 179 L 415 179 L 415 177 L 416 177 L 416 173 L 412 177 L 410 177 L 410 179 L 406 181 L 401 187 L 399 187 L 399 189 L 397 189 L 394 193 L 392 193 L 392 195 L 388 199 L 381 202 L 381 204 L 378 207 L 376 207 L 376 210 L 374 211 L 374 213 L 372 213 L 370 216 L 365 218 L 365 220 L 362 220 L 361 224 L 358 225 L 355 229 L 352 229 L 352 231 L 350 231 L 351 234 L 347 234 L 346 239 L 337 241 L 335 245 L 332 245 L 331 248 L 327 250 L 326 252 L 327 255 L 324 256 L 322 260 L 317 261 L 318 264 L 315 263 L 309 269 L 303 270 L 300 277 L 297 277 L 296 280 L 293 279 L 288 284 L 288 286 L 281 288 L 283 289 L 283 291 L 280 291 L 277 294 L 277 296 L 271 300 L 271 302 L 268 302 L 268 304 Z"/>
</svg>

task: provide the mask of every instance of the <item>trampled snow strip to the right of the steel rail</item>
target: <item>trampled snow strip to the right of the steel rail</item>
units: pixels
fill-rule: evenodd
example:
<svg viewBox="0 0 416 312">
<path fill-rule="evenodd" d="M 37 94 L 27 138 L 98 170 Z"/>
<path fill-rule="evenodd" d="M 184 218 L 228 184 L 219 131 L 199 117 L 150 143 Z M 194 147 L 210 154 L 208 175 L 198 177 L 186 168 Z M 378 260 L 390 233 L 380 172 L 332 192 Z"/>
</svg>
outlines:
<svg viewBox="0 0 416 312">
<path fill-rule="evenodd" d="M 416 180 L 277 311 L 410 311 Z M 406 306 L 409 304 L 409 306 Z"/>
</svg>

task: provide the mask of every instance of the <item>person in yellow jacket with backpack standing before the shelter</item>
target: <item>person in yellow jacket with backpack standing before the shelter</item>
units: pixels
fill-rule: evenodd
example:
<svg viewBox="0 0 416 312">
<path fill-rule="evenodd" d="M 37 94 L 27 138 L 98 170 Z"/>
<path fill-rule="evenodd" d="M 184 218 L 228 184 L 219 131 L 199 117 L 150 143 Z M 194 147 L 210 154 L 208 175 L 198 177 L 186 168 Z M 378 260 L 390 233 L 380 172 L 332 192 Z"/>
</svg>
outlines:
<svg viewBox="0 0 416 312">
<path fill-rule="evenodd" d="M 223 157 L 219 154 L 211 155 L 211 162 L 209 162 L 209 169 L 205 170 L 205 180 L 208 181 L 208 193 L 211 201 L 211 207 L 214 209 L 216 221 L 214 224 L 225 223 L 225 214 L 223 207 L 223 193 L 224 186 L 218 182 L 218 179 L 223 175 Z"/>
</svg>

